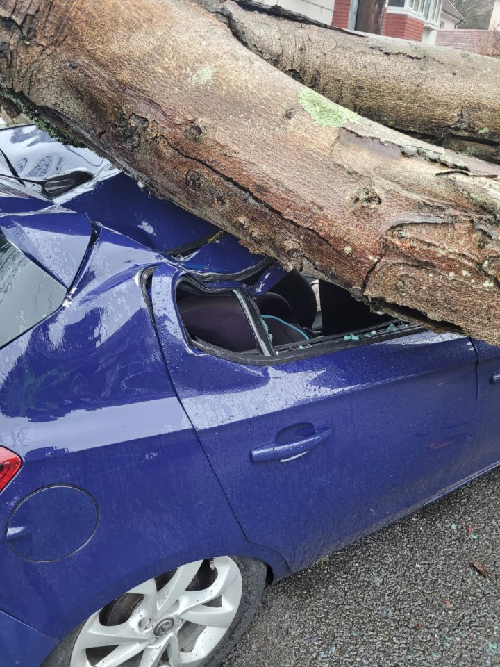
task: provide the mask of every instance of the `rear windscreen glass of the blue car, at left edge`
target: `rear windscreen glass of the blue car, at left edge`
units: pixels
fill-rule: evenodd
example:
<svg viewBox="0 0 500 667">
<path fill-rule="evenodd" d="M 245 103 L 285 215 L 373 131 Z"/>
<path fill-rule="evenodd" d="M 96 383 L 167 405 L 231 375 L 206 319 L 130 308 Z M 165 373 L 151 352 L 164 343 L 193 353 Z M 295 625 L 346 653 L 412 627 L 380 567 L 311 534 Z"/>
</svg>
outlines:
<svg viewBox="0 0 500 667">
<path fill-rule="evenodd" d="M 0 347 L 59 308 L 66 288 L 0 234 Z"/>
</svg>

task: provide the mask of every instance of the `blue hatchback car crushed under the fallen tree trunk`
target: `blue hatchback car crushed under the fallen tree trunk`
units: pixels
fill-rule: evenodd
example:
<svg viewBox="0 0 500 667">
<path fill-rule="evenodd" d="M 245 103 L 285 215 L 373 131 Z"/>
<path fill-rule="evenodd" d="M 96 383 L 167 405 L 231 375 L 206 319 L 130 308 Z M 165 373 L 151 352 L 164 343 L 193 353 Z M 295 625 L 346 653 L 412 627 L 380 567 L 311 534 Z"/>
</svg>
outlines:
<svg viewBox="0 0 500 667">
<path fill-rule="evenodd" d="M 215 667 L 266 584 L 500 463 L 500 349 L 0 132 L 0 665 Z"/>
</svg>

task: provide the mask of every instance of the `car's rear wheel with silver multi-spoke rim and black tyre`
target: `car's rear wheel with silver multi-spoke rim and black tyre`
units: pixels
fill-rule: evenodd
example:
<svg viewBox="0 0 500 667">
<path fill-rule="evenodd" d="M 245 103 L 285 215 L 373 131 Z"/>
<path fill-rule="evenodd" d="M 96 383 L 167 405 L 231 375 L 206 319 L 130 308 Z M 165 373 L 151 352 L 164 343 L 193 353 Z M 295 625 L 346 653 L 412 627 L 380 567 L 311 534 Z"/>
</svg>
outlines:
<svg viewBox="0 0 500 667">
<path fill-rule="evenodd" d="M 249 625 L 266 577 L 252 558 L 187 563 L 92 614 L 41 667 L 217 667 Z"/>
</svg>

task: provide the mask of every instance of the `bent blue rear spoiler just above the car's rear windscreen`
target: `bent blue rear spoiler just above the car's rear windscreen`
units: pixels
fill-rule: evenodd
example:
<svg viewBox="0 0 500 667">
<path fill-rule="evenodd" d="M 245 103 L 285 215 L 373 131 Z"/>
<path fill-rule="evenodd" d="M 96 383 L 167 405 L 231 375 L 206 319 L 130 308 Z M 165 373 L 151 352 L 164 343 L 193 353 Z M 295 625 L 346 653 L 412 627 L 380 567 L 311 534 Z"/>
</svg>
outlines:
<svg viewBox="0 0 500 667">
<path fill-rule="evenodd" d="M 4 213 L 0 215 L 0 230 L 31 261 L 68 288 L 92 233 L 86 215 L 53 206 L 29 214 Z"/>
</svg>

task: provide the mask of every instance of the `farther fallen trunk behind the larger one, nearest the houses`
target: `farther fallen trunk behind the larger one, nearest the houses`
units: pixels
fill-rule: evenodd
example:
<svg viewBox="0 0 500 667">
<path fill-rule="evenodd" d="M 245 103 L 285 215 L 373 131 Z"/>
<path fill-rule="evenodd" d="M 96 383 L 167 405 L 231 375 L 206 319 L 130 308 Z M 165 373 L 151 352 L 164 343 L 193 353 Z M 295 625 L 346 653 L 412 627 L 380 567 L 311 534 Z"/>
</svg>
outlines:
<svg viewBox="0 0 500 667">
<path fill-rule="evenodd" d="M 204 4 L 253 53 L 337 104 L 500 163 L 500 59 L 341 31 L 244 0 Z"/>
</svg>

